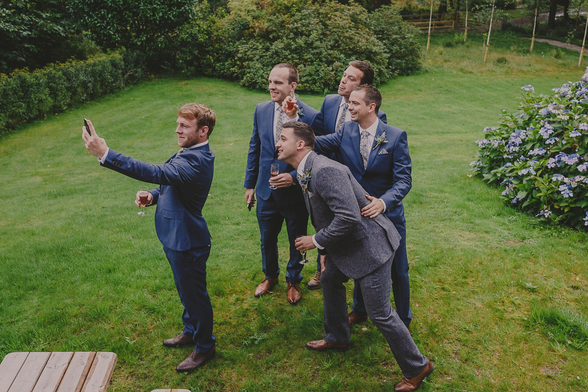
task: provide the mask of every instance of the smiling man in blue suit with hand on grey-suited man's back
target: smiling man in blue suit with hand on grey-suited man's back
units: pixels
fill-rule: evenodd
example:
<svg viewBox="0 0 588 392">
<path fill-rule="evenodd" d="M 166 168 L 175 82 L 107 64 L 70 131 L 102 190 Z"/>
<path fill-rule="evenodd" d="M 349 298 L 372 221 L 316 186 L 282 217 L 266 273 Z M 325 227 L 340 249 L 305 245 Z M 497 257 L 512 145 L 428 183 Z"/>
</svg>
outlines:
<svg viewBox="0 0 588 392">
<path fill-rule="evenodd" d="M 349 97 L 351 121 L 330 135 L 316 138 L 315 150 L 336 152 L 340 163 L 349 167 L 356 180 L 368 192 L 368 206 L 362 215 L 386 215 L 400 234 L 400 245 L 392 265 L 392 292 L 396 312 L 408 328 L 412 320 L 410 310 L 410 281 L 406 256 L 406 223 L 402 199 L 408 194 L 412 177 L 406 132 L 386 125 L 377 118 L 382 94 L 373 86 L 355 86 Z M 367 319 L 361 289 L 356 285 L 353 311 L 349 324 Z"/>
</svg>

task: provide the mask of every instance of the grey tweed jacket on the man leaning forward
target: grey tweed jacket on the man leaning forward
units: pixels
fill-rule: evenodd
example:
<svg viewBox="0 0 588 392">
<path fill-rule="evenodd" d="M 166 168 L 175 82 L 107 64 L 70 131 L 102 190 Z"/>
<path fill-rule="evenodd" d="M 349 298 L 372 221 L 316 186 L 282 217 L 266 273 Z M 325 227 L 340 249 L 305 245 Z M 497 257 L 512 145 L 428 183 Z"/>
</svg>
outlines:
<svg viewBox="0 0 588 392">
<path fill-rule="evenodd" d="M 363 217 L 368 193 L 348 167 L 311 152 L 305 163 L 310 181 L 304 192 L 306 208 L 316 229 L 315 240 L 329 259 L 352 279 L 386 263 L 400 242 L 396 228 L 380 214 Z"/>
</svg>

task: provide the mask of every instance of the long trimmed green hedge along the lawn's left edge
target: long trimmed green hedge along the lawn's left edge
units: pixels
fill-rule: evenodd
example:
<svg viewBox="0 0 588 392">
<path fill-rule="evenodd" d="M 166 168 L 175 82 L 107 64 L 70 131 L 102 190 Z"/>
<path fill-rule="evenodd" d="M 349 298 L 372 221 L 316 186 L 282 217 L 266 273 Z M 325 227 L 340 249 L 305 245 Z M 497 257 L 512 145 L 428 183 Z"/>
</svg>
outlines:
<svg viewBox="0 0 588 392">
<path fill-rule="evenodd" d="M 0 135 L 22 123 L 115 92 L 142 78 L 141 55 L 127 51 L 0 74 Z"/>
</svg>

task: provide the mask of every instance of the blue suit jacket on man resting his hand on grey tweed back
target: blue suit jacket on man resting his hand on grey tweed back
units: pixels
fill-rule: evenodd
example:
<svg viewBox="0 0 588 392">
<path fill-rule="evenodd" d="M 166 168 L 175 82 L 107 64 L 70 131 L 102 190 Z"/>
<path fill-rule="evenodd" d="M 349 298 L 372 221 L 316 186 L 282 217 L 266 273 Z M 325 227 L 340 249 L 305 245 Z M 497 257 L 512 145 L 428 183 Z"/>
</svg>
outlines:
<svg viewBox="0 0 588 392">
<path fill-rule="evenodd" d="M 406 132 L 378 120 L 376 138 L 386 130 L 386 143 L 377 145 L 374 139 L 370 148 L 368 166 L 363 168 L 362 155 L 359 152 L 359 125 L 348 121 L 339 132 L 316 138 L 315 151 L 322 153 L 336 152 L 340 163 L 349 167 L 353 177 L 360 183 L 368 195 L 384 200 L 386 216 L 395 225 L 404 225 L 404 206 L 402 199 L 412 185 L 412 162 L 408 151 Z"/>
</svg>

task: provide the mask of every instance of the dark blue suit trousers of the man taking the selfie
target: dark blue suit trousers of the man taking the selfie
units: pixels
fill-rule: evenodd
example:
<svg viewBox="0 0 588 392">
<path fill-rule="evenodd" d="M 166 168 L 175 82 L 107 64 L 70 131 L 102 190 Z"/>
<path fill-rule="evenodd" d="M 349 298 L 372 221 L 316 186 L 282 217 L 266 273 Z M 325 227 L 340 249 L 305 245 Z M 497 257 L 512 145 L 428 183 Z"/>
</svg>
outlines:
<svg viewBox="0 0 588 392">
<path fill-rule="evenodd" d="M 212 334 L 212 304 L 206 290 L 206 260 L 211 247 L 180 251 L 164 245 L 163 251 L 172 267 L 173 281 L 184 307 L 183 334 L 193 337 L 196 351 L 206 353 L 215 347 L 216 341 Z"/>
</svg>

